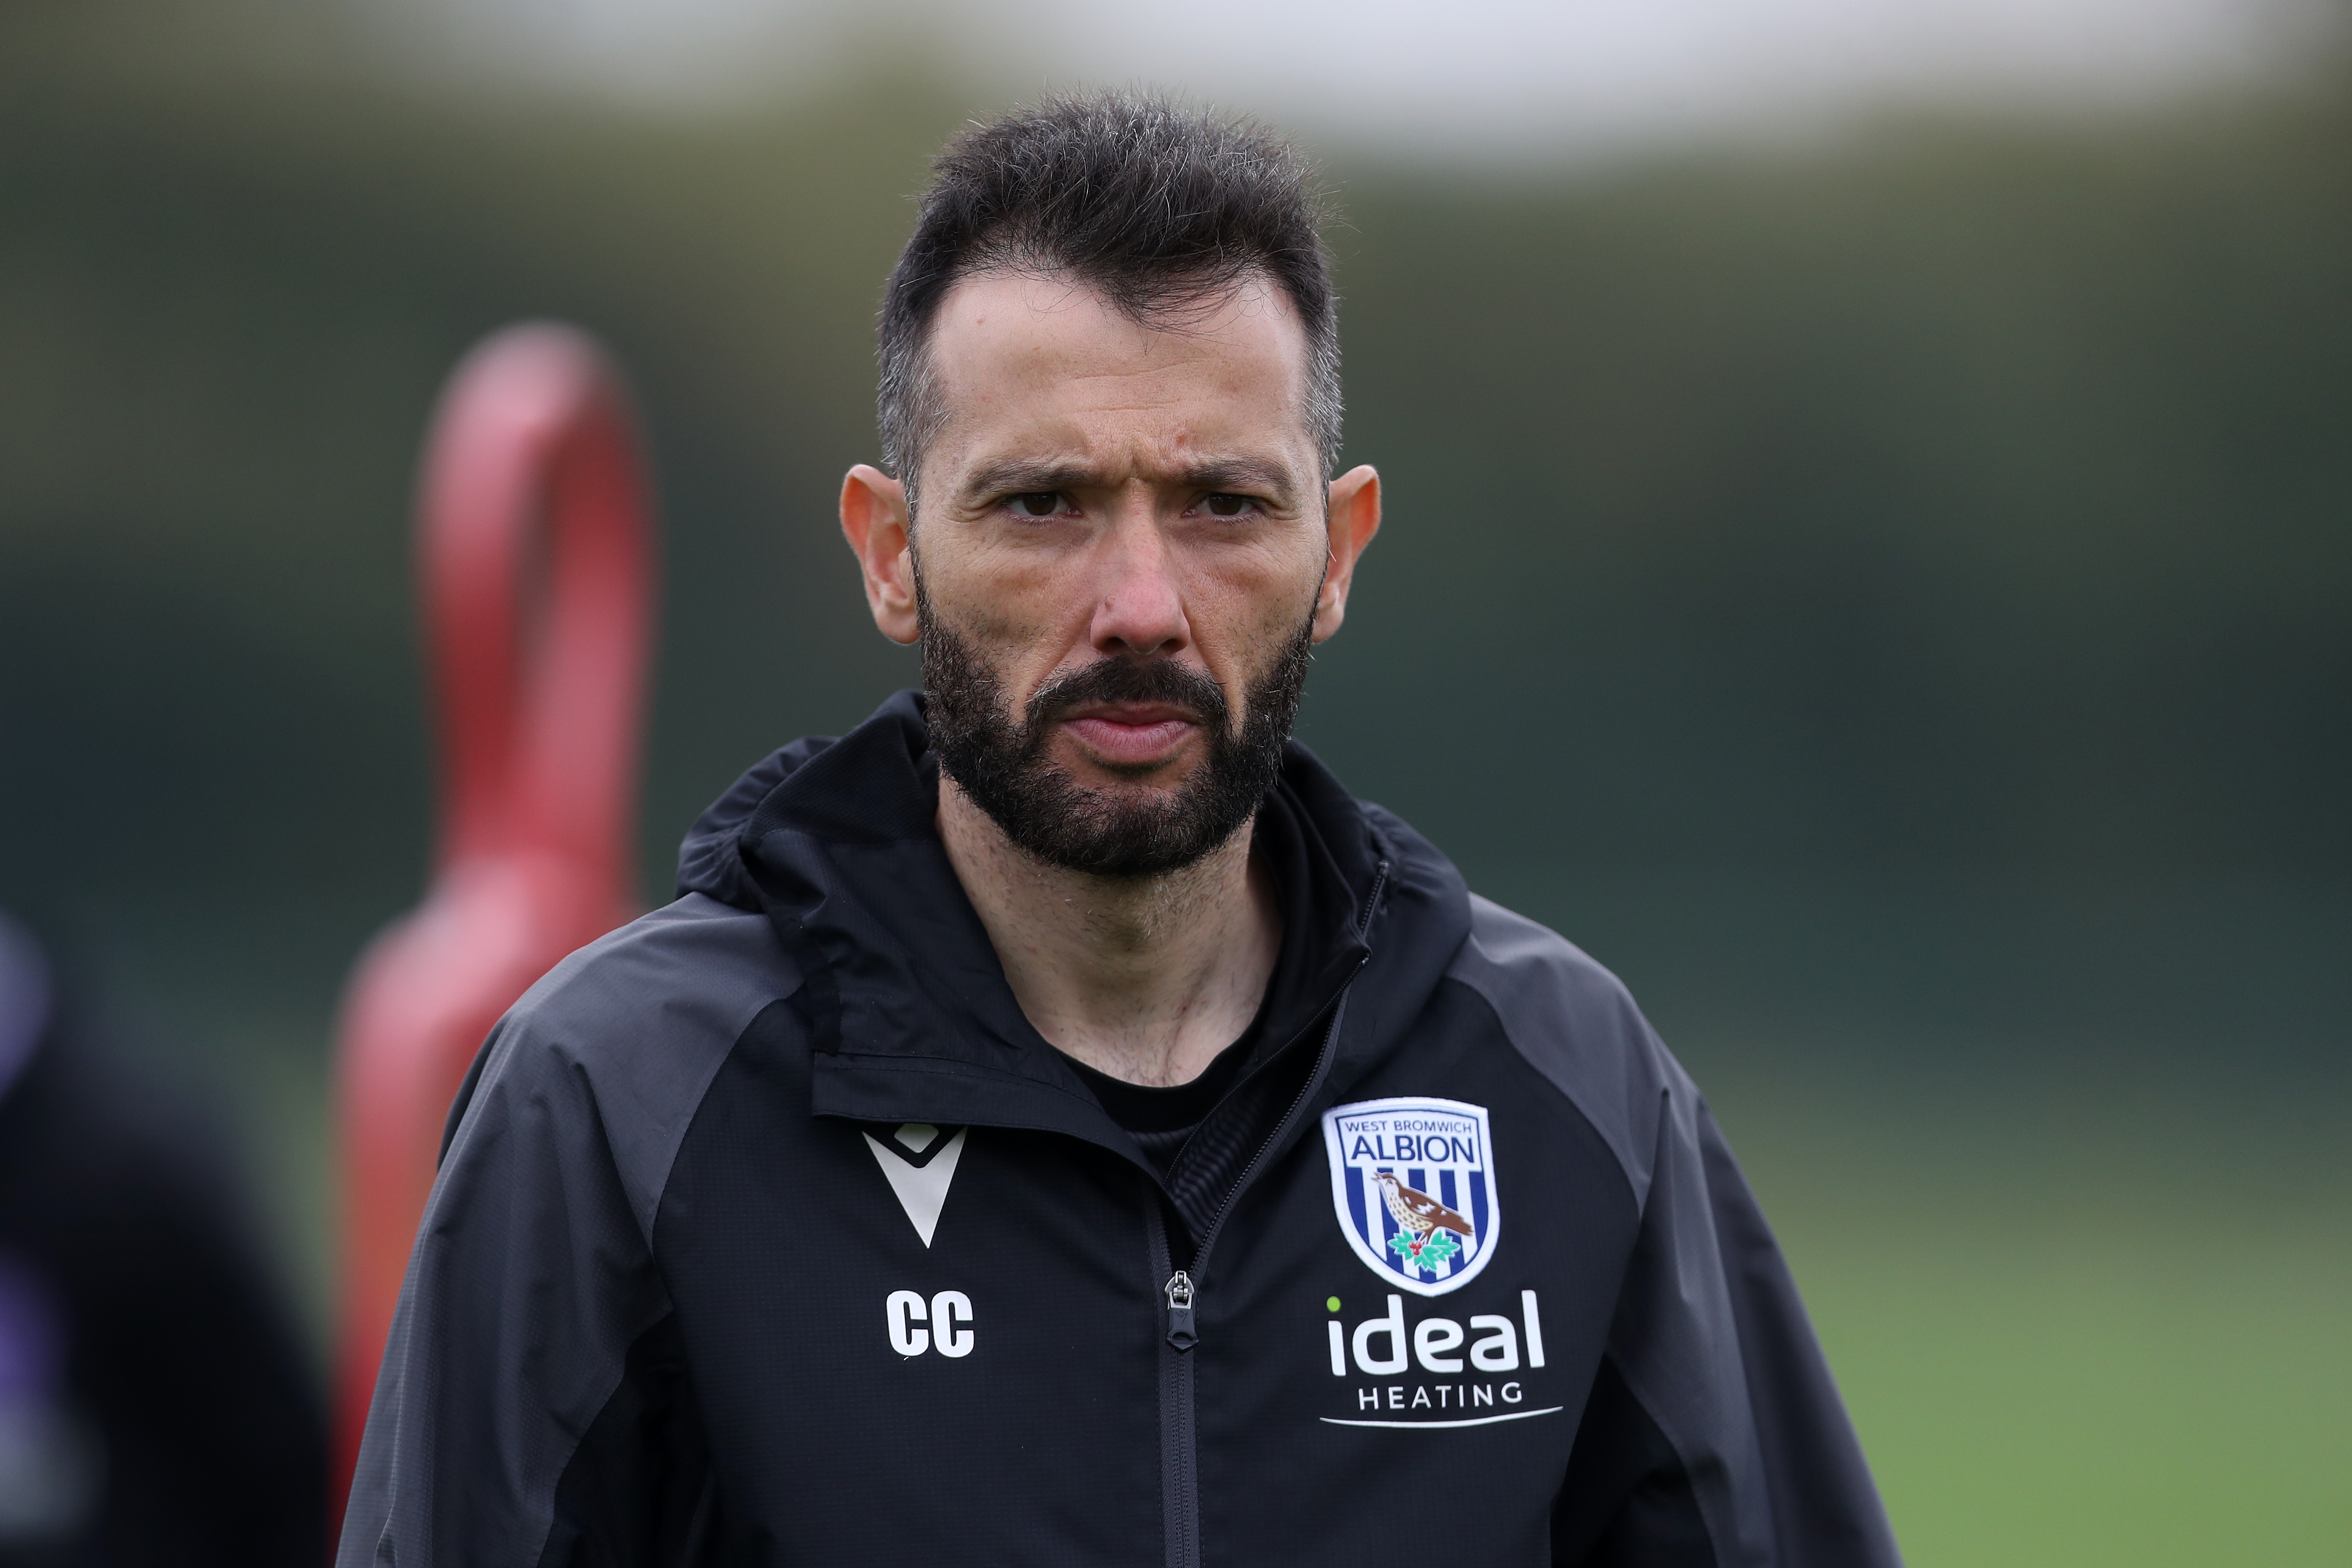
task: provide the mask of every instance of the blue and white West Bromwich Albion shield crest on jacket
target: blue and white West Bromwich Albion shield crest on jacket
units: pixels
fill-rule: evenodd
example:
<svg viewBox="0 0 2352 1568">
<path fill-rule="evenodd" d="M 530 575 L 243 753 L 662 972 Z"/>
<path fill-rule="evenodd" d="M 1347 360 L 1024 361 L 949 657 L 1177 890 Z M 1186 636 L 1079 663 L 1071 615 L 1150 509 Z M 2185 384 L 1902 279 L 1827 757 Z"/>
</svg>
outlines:
<svg viewBox="0 0 2352 1568">
<path fill-rule="evenodd" d="M 1416 1295 L 1444 1295 L 1494 1258 L 1503 1206 L 1484 1105 L 1334 1105 L 1324 1112 L 1324 1150 L 1338 1227 L 1374 1274 Z"/>
</svg>

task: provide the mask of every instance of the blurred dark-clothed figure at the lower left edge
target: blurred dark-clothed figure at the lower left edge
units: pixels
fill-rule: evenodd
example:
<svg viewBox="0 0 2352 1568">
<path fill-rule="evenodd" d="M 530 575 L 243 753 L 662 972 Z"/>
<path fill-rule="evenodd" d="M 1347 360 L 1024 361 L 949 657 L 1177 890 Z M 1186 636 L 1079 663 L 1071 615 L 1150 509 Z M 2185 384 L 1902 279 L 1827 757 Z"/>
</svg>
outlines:
<svg viewBox="0 0 2352 1568">
<path fill-rule="evenodd" d="M 219 1166 L 0 917 L 0 1568 L 318 1561 L 325 1410 Z"/>
</svg>

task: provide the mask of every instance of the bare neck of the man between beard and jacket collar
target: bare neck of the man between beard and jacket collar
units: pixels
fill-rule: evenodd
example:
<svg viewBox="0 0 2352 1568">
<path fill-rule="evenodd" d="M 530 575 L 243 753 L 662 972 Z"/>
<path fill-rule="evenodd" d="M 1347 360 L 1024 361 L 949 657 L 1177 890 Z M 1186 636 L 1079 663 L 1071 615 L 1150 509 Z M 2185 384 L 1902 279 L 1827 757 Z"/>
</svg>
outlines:
<svg viewBox="0 0 2352 1568">
<path fill-rule="evenodd" d="M 1021 1011 L 1129 1084 L 1192 1081 L 1258 1013 L 1282 912 L 1251 835 L 1162 877 L 1094 877 L 1023 851 L 938 780 L 938 837 Z"/>
</svg>

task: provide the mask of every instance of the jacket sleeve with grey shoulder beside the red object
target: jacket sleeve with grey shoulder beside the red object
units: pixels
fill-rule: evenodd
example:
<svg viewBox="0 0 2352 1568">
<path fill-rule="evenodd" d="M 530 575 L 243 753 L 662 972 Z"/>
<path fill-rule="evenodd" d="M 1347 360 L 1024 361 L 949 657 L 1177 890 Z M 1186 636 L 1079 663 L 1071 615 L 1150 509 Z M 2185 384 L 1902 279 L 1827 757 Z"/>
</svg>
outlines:
<svg viewBox="0 0 2352 1568">
<path fill-rule="evenodd" d="M 715 1488 L 656 1218 L 722 1060 L 795 987 L 764 917 L 687 896 L 499 1023 L 400 1286 L 341 1568 L 703 1554 Z"/>
</svg>

